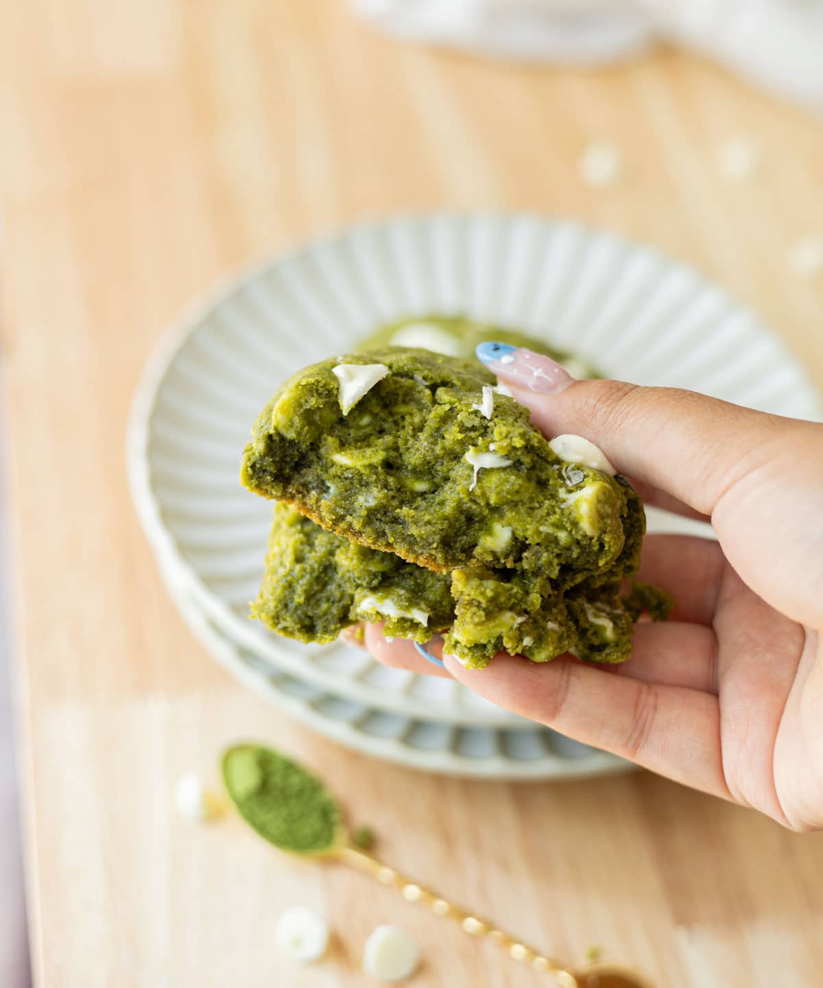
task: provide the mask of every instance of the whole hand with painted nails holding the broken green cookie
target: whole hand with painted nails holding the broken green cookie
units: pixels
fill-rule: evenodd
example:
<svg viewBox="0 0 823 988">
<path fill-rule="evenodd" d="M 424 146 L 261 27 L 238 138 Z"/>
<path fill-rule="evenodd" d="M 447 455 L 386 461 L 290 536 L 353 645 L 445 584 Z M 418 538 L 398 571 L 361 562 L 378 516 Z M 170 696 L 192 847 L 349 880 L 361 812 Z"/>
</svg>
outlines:
<svg viewBox="0 0 823 988">
<path fill-rule="evenodd" d="M 638 765 L 823 828 L 823 425 L 691 391 L 574 380 L 527 350 L 478 356 L 545 435 L 599 446 L 649 503 L 710 519 L 718 542 L 650 535 L 639 577 L 677 599 L 621 666 L 498 655 L 485 670 L 366 630 L 376 659 L 475 693 Z M 503 357 L 506 363 L 500 361 Z M 431 647 L 431 646 L 430 646 Z"/>
</svg>

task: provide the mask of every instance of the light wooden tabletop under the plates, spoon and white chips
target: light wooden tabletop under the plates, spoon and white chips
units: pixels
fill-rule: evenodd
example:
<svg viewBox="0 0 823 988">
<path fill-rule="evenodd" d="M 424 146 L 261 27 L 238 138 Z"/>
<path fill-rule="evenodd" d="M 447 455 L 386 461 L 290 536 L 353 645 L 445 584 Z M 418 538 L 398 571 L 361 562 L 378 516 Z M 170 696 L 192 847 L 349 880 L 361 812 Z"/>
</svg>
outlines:
<svg viewBox="0 0 823 988">
<path fill-rule="evenodd" d="M 38 984 L 360 986 L 370 929 L 423 945 L 420 986 L 540 976 L 342 869 L 233 821 L 178 817 L 178 775 L 259 735 L 317 767 L 392 864 L 560 956 L 592 944 L 661 986 L 819 985 L 823 835 L 637 773 L 440 779 L 289 723 L 193 640 L 126 491 L 129 397 L 164 326 L 231 265 L 365 215 L 437 206 L 574 215 L 696 264 L 823 384 L 823 283 L 786 268 L 823 232 L 823 130 L 659 51 L 585 72 L 377 37 L 343 0 L 0 3 L 3 348 L 20 587 L 20 730 Z M 722 179 L 733 134 L 763 151 Z M 617 186 L 576 174 L 591 138 Z M 330 958 L 288 966 L 275 919 L 327 913 Z"/>
</svg>

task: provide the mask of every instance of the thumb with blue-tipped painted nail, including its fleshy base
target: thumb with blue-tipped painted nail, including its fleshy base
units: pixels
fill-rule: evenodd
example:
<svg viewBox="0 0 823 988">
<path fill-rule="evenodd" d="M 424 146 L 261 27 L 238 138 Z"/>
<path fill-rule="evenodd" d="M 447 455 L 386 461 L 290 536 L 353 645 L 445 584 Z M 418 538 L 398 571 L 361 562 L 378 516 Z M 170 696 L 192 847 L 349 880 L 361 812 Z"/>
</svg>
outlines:
<svg viewBox="0 0 823 988">
<path fill-rule="evenodd" d="M 695 391 L 575 380 L 548 357 L 500 343 L 477 356 L 547 436 L 583 436 L 620 473 L 710 515 L 726 558 L 795 620 L 823 617 L 823 426 Z"/>
</svg>

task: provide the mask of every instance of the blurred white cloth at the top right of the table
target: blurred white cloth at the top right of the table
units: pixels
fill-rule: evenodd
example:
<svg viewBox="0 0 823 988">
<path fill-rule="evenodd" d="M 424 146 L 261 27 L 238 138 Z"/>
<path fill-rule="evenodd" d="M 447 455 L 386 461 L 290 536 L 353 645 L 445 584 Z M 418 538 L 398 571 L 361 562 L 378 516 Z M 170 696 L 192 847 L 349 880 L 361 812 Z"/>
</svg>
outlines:
<svg viewBox="0 0 823 988">
<path fill-rule="evenodd" d="M 353 0 L 379 27 L 505 57 L 613 61 L 657 38 L 823 110 L 823 0 Z"/>
</svg>

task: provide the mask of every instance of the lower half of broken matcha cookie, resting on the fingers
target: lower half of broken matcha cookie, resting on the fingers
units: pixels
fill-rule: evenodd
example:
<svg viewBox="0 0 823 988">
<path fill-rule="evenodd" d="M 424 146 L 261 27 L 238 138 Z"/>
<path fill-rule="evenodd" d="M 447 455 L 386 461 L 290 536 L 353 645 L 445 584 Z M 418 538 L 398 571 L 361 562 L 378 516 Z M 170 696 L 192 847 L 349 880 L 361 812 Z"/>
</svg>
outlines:
<svg viewBox="0 0 823 988">
<path fill-rule="evenodd" d="M 486 567 L 436 573 L 326 532 L 284 503 L 275 517 L 266 574 L 252 616 L 299 641 L 334 641 L 345 627 L 384 621 L 386 634 L 426 642 L 449 629 L 447 650 L 472 668 L 499 651 L 544 662 L 571 650 L 592 662 L 620 662 L 632 621 L 663 606 L 659 591 L 619 582 L 581 585 L 545 599 L 523 580 Z"/>
</svg>

